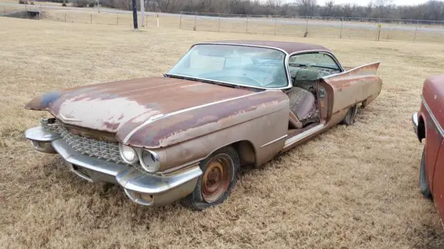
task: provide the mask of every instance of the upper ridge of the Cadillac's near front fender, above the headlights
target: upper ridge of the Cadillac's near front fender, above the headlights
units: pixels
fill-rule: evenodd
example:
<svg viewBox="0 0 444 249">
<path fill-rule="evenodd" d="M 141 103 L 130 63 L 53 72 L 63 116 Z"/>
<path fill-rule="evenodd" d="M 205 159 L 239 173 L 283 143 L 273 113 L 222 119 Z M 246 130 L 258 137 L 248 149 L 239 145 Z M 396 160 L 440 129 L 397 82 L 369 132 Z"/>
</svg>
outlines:
<svg viewBox="0 0 444 249">
<path fill-rule="evenodd" d="M 262 91 L 244 98 L 167 114 L 156 120 L 148 120 L 131 131 L 123 125 L 117 131 L 117 139 L 133 147 L 169 147 L 285 108 L 289 110 L 289 99 L 282 91 Z M 283 122 L 287 125 L 288 113 L 287 120 Z M 265 141 L 267 138 L 263 136 L 262 139 Z"/>
</svg>

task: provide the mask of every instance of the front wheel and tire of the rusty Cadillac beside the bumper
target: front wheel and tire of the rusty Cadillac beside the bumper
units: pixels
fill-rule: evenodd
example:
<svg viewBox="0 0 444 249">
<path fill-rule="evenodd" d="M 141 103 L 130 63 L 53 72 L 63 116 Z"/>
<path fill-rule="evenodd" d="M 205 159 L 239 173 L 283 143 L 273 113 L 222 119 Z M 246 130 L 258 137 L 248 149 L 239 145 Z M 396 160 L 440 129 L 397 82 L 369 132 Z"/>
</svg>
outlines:
<svg viewBox="0 0 444 249">
<path fill-rule="evenodd" d="M 223 203 L 236 185 L 239 165 L 236 149 L 233 147 L 218 149 L 200 162 L 203 174 L 198 178 L 193 192 L 180 200 L 180 203 L 193 210 L 204 210 Z"/>
</svg>

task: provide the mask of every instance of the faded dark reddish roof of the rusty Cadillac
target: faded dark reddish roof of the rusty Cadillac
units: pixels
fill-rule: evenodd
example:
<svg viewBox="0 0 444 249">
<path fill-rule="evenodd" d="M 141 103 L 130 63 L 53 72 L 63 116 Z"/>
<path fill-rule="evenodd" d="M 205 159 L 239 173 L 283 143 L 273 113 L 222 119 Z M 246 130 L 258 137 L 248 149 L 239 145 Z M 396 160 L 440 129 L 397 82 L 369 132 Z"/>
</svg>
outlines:
<svg viewBox="0 0 444 249">
<path fill-rule="evenodd" d="M 205 42 L 207 44 L 239 44 L 247 46 L 266 46 L 272 48 L 279 48 L 285 52 L 298 53 L 306 50 L 325 50 L 331 53 L 330 49 L 324 46 L 316 44 L 305 44 L 300 42 L 278 42 L 278 41 L 256 41 L 256 40 L 228 40 L 228 41 L 216 41 L 216 42 Z"/>
</svg>

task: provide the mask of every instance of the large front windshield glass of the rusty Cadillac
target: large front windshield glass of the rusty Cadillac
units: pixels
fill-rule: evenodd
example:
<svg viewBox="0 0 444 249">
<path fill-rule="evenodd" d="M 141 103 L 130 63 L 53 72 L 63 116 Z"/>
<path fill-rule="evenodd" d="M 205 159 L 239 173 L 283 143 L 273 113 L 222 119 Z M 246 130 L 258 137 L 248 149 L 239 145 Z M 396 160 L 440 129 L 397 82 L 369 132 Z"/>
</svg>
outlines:
<svg viewBox="0 0 444 249">
<path fill-rule="evenodd" d="M 199 44 L 191 48 L 167 73 L 266 89 L 288 85 L 285 54 L 273 48 Z"/>
</svg>

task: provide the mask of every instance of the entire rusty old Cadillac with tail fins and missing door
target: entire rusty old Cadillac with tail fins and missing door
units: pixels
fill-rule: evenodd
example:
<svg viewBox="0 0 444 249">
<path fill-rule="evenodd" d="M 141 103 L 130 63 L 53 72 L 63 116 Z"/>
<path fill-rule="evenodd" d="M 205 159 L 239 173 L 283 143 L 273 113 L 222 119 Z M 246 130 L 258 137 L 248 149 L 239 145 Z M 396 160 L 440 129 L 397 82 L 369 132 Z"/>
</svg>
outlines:
<svg viewBox="0 0 444 249">
<path fill-rule="evenodd" d="M 194 210 L 225 201 L 239 167 L 262 165 L 377 98 L 379 62 L 345 69 L 323 46 L 194 44 L 162 77 L 45 93 L 34 149 L 74 174 L 120 185 L 132 201 Z"/>
</svg>

